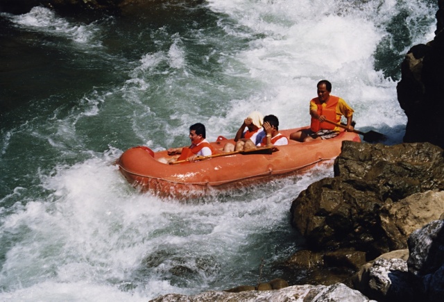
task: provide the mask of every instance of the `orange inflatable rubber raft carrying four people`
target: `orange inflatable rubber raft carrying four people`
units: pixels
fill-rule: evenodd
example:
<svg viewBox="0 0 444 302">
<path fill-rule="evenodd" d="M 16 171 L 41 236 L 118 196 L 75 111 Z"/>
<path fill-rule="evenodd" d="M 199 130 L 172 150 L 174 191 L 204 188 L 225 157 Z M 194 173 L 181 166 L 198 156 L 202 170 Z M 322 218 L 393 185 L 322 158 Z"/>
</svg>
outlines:
<svg viewBox="0 0 444 302">
<path fill-rule="evenodd" d="M 289 137 L 290 133 L 299 129 L 287 129 L 280 133 Z M 305 171 L 339 156 L 344 140 L 361 142 L 357 133 L 341 132 L 330 140 L 304 143 L 289 140 L 288 145 L 278 146 L 273 153 L 236 153 L 178 165 L 157 161 L 158 158 L 171 158 L 167 151 L 153 152 L 146 146 L 135 146 L 123 152 L 117 165 L 128 182 L 143 191 L 163 197 L 188 199 L 214 190 L 244 187 Z M 223 149 L 227 142 L 234 143 L 233 140 L 218 137 L 211 144 L 216 149 Z"/>
</svg>

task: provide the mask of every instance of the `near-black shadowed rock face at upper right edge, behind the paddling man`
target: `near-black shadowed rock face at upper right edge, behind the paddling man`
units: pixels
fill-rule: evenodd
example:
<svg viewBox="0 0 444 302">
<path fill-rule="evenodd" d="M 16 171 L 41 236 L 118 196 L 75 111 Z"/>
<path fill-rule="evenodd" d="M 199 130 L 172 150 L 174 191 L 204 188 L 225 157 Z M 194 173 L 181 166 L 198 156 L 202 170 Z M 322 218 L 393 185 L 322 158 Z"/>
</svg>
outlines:
<svg viewBox="0 0 444 302">
<path fill-rule="evenodd" d="M 438 1 L 432 42 L 412 47 L 401 65 L 398 101 L 408 117 L 404 142 L 444 148 L 444 1 Z"/>
</svg>

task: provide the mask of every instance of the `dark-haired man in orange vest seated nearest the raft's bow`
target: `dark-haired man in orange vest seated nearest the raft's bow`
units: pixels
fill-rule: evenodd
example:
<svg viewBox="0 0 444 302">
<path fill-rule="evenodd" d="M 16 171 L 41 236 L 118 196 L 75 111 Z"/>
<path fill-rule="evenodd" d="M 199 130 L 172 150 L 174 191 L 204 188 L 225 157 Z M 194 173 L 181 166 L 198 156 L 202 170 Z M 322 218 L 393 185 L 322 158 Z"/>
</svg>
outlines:
<svg viewBox="0 0 444 302">
<path fill-rule="evenodd" d="M 203 124 L 197 123 L 189 127 L 189 139 L 191 140 L 191 145 L 189 147 L 183 148 L 170 148 L 167 150 L 169 156 L 174 156 L 170 160 L 165 158 L 159 159 L 160 162 L 169 163 L 177 160 L 189 160 L 194 162 L 198 156 L 211 156 L 216 152 L 212 145 L 205 138 L 205 126 Z M 166 162 L 165 162 L 166 161 Z"/>
</svg>

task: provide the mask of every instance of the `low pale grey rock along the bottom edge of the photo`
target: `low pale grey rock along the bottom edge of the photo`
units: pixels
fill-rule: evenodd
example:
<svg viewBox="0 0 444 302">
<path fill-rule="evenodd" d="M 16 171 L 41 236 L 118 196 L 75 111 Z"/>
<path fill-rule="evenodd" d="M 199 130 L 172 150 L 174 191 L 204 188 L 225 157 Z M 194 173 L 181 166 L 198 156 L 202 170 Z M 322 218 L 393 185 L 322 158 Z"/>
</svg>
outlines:
<svg viewBox="0 0 444 302">
<path fill-rule="evenodd" d="M 167 294 L 151 300 L 153 302 L 222 302 L 222 301 L 370 301 L 366 296 L 341 283 L 324 285 L 294 285 L 282 290 L 250 292 L 203 292 L 195 296 Z"/>
</svg>

